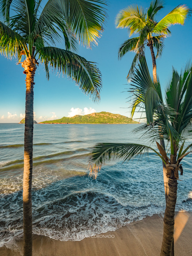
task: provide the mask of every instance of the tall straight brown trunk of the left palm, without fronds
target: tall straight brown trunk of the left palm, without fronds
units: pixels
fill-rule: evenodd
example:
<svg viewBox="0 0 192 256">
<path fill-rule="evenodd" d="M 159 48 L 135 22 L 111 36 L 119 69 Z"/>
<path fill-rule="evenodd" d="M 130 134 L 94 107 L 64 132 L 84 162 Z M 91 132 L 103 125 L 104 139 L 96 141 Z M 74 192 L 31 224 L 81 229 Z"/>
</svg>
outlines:
<svg viewBox="0 0 192 256">
<path fill-rule="evenodd" d="M 25 142 L 23 172 L 23 255 L 32 255 L 32 202 L 31 185 L 33 172 L 33 85 L 35 60 L 27 58 L 23 65 L 26 74 Z"/>
</svg>

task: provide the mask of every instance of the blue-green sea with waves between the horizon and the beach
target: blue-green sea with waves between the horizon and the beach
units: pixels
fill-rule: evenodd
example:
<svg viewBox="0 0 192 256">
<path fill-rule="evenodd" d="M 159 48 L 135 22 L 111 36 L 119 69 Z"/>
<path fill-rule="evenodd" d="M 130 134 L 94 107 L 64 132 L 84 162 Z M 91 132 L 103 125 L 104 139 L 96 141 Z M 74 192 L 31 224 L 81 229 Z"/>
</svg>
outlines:
<svg viewBox="0 0 192 256">
<path fill-rule="evenodd" d="M 128 163 L 110 162 L 97 180 L 89 175 L 98 142 L 142 142 L 135 124 L 35 124 L 33 232 L 81 240 L 116 230 L 165 210 L 162 163 L 153 153 Z M 0 246 L 22 237 L 24 125 L 0 124 Z M 191 155 L 183 161 L 176 210 L 192 211 Z"/>
</svg>

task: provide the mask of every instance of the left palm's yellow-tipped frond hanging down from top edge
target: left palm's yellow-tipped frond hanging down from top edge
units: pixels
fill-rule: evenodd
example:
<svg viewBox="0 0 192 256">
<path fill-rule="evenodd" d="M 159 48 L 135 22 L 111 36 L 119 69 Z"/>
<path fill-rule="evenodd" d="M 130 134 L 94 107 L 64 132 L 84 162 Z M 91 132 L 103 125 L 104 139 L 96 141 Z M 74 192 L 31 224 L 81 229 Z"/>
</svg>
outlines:
<svg viewBox="0 0 192 256">
<path fill-rule="evenodd" d="M 63 8 L 66 22 L 88 47 L 97 45 L 97 38 L 101 36 L 107 3 L 107 0 L 65 0 L 65 6 L 69 7 L 68 12 Z"/>
</svg>

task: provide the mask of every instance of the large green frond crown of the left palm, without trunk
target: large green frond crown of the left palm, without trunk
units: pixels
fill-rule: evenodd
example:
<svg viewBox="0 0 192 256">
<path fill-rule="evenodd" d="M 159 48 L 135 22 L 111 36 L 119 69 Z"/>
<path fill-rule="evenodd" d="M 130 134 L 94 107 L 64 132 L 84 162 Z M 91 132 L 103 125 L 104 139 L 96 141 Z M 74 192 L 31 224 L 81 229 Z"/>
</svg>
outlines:
<svg viewBox="0 0 192 256">
<path fill-rule="evenodd" d="M 44 63 L 47 78 L 49 68 L 58 69 L 98 100 L 101 74 L 94 63 L 74 52 L 78 39 L 87 47 L 97 44 L 106 17 L 105 0 L 48 0 L 43 9 L 40 4 L 41 0 L 0 1 L 1 54 L 18 61 L 22 55 L 34 57 L 35 64 Z"/>
</svg>

